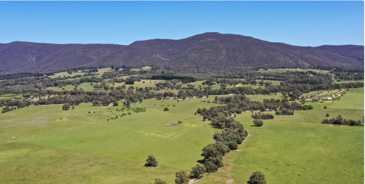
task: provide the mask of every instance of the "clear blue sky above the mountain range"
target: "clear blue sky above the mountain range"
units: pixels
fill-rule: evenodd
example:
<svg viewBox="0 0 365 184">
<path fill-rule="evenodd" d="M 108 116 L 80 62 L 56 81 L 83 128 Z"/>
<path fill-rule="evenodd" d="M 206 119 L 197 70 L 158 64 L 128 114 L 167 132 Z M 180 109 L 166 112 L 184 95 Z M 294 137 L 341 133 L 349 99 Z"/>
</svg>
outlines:
<svg viewBox="0 0 365 184">
<path fill-rule="evenodd" d="M 205 32 L 364 45 L 364 1 L 0 1 L 0 43 L 128 45 Z"/>
</svg>

